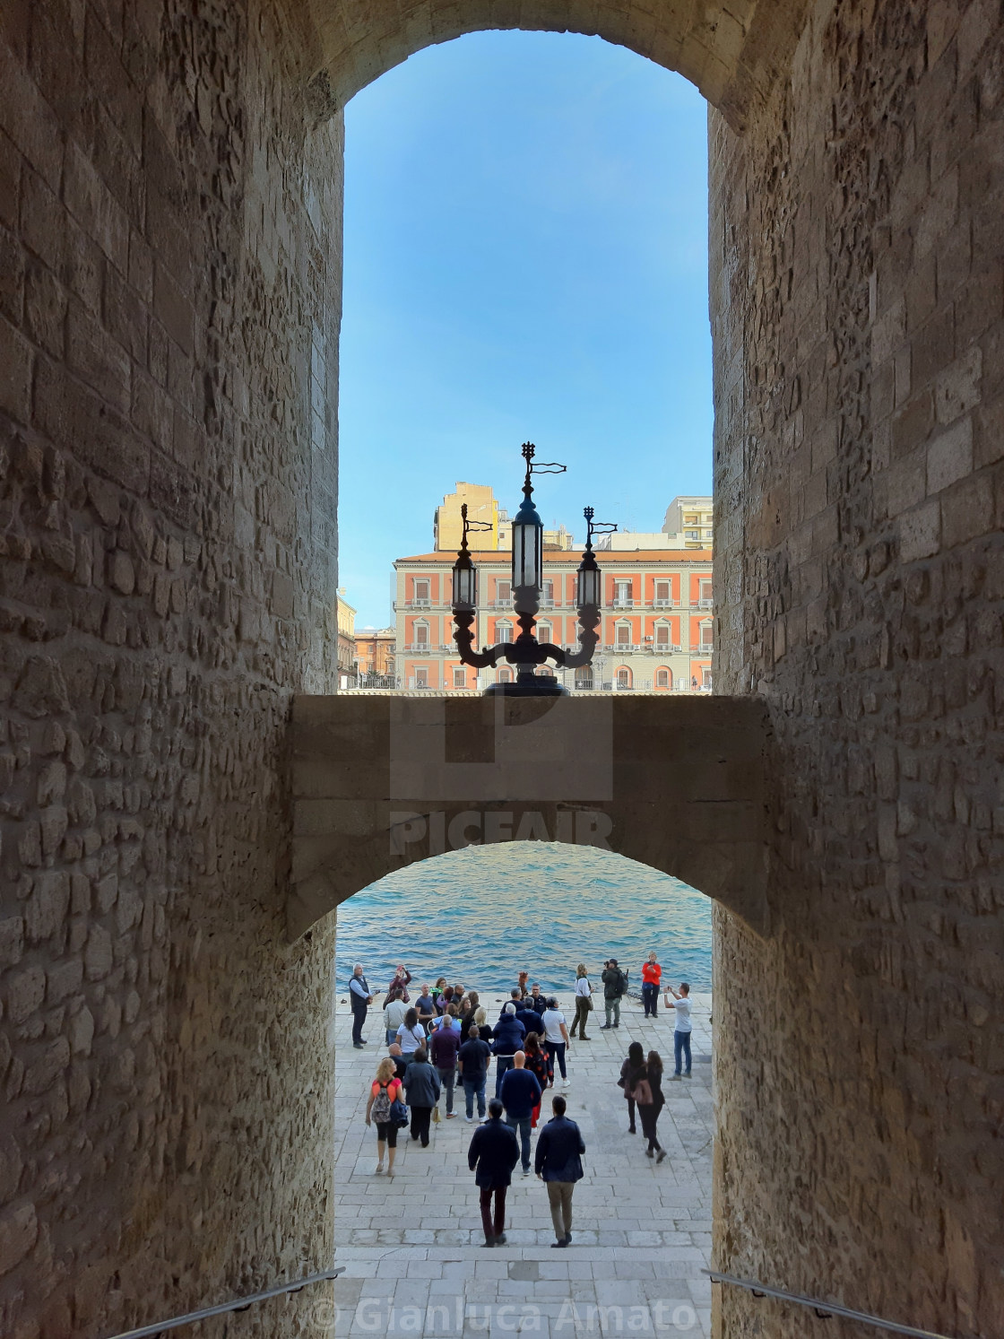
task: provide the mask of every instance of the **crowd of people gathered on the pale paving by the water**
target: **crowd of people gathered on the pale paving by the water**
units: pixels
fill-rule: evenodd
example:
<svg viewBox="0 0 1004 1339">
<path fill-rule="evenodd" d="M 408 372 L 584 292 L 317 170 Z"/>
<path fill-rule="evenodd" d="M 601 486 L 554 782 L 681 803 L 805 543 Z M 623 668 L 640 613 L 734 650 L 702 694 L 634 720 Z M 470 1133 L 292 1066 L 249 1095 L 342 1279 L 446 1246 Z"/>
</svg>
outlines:
<svg viewBox="0 0 1004 1339">
<path fill-rule="evenodd" d="M 644 1016 L 659 1014 L 661 967 L 655 952 L 641 968 Z M 378 1176 L 394 1176 L 398 1131 L 406 1126 L 419 1148 L 428 1148 L 431 1126 L 440 1119 L 439 1102 L 444 1097 L 446 1119 L 459 1113 L 458 1085 L 463 1094 L 465 1121 L 479 1122 L 471 1138 L 467 1162 L 475 1173 L 481 1192 L 481 1216 L 485 1245 L 505 1244 L 506 1190 L 517 1164 L 530 1176 L 531 1131 L 541 1121 L 543 1094 L 556 1087 L 556 1071 L 568 1087 L 568 1050 L 573 1036 L 590 1042 L 589 1015 L 596 1008 L 593 986 L 584 963 L 576 971 L 576 1015 L 569 1030 L 558 1000 L 543 995 L 529 972 L 519 972 L 510 998 L 493 1022 L 477 991 L 462 983 L 448 984 L 440 976 L 435 986 L 420 983 L 412 1000 L 408 987 L 411 972 L 398 967 L 382 1002 L 387 1055 L 376 1067 L 369 1083 L 365 1123 L 376 1126 Z M 616 957 L 604 963 L 601 973 L 604 1018 L 601 1030 L 621 1026 L 621 1000 L 629 994 L 628 971 Z M 664 1006 L 673 1008 L 675 1073 L 671 1079 L 691 1077 L 691 1000 L 689 986 L 667 986 Z M 356 963 L 349 981 L 352 1006 L 352 1044 L 368 1044 L 363 1036 L 375 995 L 369 990 L 361 963 Z M 489 1071 L 495 1065 L 494 1094 L 486 1101 Z M 641 1042 L 632 1042 L 621 1066 L 618 1086 L 628 1106 L 628 1133 L 636 1134 L 639 1123 L 645 1141 L 645 1154 L 656 1162 L 665 1157 L 659 1142 L 659 1115 L 665 1103 L 663 1094 L 663 1059 L 657 1051 L 645 1052 Z M 552 1117 L 541 1126 L 533 1150 L 533 1170 L 546 1184 L 554 1224 L 554 1247 L 572 1243 L 572 1193 L 582 1178 L 585 1144 L 578 1125 L 568 1117 L 568 1103 L 561 1093 L 550 1101 Z"/>
</svg>

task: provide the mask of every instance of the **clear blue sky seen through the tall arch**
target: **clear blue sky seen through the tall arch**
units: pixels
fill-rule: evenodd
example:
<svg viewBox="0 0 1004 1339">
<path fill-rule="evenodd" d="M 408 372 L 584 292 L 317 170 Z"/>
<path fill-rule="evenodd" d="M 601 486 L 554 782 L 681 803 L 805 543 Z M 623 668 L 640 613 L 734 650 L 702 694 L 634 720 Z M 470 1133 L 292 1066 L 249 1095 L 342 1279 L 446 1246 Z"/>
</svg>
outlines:
<svg viewBox="0 0 1004 1339">
<path fill-rule="evenodd" d="M 711 491 L 707 110 L 598 37 L 430 47 L 345 108 L 339 584 L 390 621 L 394 558 L 458 479 L 545 525 L 659 529 Z"/>
</svg>

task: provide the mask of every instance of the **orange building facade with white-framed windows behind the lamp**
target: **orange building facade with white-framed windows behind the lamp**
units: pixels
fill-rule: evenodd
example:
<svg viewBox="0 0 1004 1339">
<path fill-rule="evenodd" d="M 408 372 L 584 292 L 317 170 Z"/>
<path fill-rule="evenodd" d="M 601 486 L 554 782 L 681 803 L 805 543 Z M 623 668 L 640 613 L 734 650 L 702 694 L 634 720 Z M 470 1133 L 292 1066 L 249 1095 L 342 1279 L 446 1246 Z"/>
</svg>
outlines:
<svg viewBox="0 0 1004 1339">
<path fill-rule="evenodd" d="M 478 568 L 475 645 L 518 635 L 510 589 L 510 554 L 473 554 Z M 585 670 L 558 670 L 570 691 L 708 692 L 714 648 L 709 550 L 604 552 L 600 645 Z M 514 676 L 461 664 L 452 641 L 452 553 L 398 558 L 396 678 L 399 688 L 473 692 Z M 576 569 L 580 554 L 545 549 L 537 637 L 578 649 Z"/>
</svg>

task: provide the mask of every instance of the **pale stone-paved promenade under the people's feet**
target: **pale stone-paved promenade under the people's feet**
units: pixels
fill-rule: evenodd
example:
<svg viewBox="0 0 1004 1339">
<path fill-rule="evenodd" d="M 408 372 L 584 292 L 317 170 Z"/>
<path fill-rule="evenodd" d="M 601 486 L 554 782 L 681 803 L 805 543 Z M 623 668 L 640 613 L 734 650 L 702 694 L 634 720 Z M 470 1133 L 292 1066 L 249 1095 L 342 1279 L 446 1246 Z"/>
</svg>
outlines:
<svg viewBox="0 0 1004 1339">
<path fill-rule="evenodd" d="M 482 995 L 494 1022 L 501 995 Z M 566 1016 L 570 996 L 561 998 Z M 371 1014 L 365 1050 L 352 1048 L 348 1004 L 339 1003 L 336 1059 L 336 1264 L 339 1339 L 356 1335 L 501 1336 L 513 1334 L 692 1335 L 711 1330 L 711 996 L 693 996 L 693 1077 L 664 1085 L 660 1166 L 626 1133 L 617 1078 L 631 1040 L 655 1047 L 672 1073 L 673 1019 L 660 1006 L 644 1020 L 626 1002 L 618 1031 L 574 1042 L 565 1094 L 585 1138 L 586 1176 L 574 1194 L 573 1243 L 552 1249 L 543 1185 L 517 1168 L 503 1248 L 483 1249 L 467 1145 L 475 1129 L 459 1115 L 432 1125 L 428 1149 L 402 1131 L 394 1180 L 378 1177 L 376 1134 L 364 1123 L 368 1081 L 386 1054 L 382 1018 Z M 494 1091 L 494 1066 L 487 1095 Z M 552 1093 L 545 1098 L 545 1109 Z M 440 1099 L 444 1114 L 444 1098 Z M 543 1113 L 542 1113 L 543 1114 Z M 549 1113 L 548 1113 L 549 1114 Z M 477 1111 L 475 1111 L 477 1119 Z M 535 1142 L 535 1134 L 534 1134 Z M 319 1315 L 319 1332 L 331 1318 Z"/>
</svg>

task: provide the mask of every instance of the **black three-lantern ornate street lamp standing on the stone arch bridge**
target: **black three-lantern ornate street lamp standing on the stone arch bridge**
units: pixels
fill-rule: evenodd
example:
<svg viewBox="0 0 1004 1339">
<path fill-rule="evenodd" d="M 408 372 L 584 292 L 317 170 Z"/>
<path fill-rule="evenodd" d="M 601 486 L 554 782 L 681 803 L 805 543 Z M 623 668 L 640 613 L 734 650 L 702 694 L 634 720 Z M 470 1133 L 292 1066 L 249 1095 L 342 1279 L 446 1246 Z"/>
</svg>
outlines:
<svg viewBox="0 0 1004 1339">
<path fill-rule="evenodd" d="M 597 628 L 600 627 L 600 605 L 602 604 L 602 573 L 593 553 L 593 534 L 616 530 L 616 525 L 605 521 L 593 521 L 593 509 L 584 510 L 586 520 L 586 546 L 582 561 L 578 565 L 576 580 L 576 604 L 578 607 L 578 645 L 580 651 L 568 653 L 562 647 L 556 647 L 552 641 L 538 641 L 534 636 L 537 612 L 541 607 L 541 589 L 543 584 L 543 524 L 537 507 L 533 505 L 534 474 L 561 474 L 564 465 L 553 462 L 534 465 L 533 458 L 537 447 L 531 442 L 523 443 L 522 455 L 526 461 L 526 477 L 523 478 L 523 501 L 513 521 L 513 605 L 519 624 L 519 636 L 515 641 L 503 641 L 494 647 L 485 647 L 483 651 L 473 649 L 474 633 L 470 631 L 478 615 L 478 570 L 474 566 L 467 549 L 467 534 L 470 530 L 486 528 L 482 522 L 467 520 L 467 505 L 461 507 L 463 518 L 463 537 L 454 562 L 454 641 L 461 660 L 475 670 L 486 670 L 497 665 L 499 660 L 507 660 L 517 667 L 515 683 L 493 683 L 485 690 L 485 696 L 502 694 L 513 698 L 557 698 L 568 694 L 552 675 L 538 675 L 538 665 L 553 660 L 558 667 L 577 670 L 586 665 L 593 659 L 593 651 L 600 640 Z"/>
</svg>

